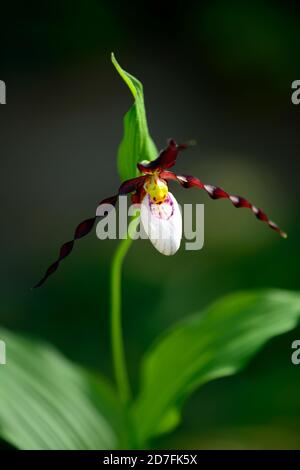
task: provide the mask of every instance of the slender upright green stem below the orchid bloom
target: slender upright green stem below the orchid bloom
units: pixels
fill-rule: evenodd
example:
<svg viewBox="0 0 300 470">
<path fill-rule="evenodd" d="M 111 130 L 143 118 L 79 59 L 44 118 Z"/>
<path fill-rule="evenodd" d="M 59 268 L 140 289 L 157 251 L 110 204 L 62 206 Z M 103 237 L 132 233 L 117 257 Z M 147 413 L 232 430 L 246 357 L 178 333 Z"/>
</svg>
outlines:
<svg viewBox="0 0 300 470">
<path fill-rule="evenodd" d="M 122 336 L 122 285 L 121 272 L 124 258 L 132 244 L 132 237 L 138 224 L 138 217 L 130 223 L 126 239 L 119 244 L 111 269 L 111 344 L 115 377 L 120 400 L 125 404 L 130 400 L 131 392 L 126 368 L 123 336 Z"/>
</svg>

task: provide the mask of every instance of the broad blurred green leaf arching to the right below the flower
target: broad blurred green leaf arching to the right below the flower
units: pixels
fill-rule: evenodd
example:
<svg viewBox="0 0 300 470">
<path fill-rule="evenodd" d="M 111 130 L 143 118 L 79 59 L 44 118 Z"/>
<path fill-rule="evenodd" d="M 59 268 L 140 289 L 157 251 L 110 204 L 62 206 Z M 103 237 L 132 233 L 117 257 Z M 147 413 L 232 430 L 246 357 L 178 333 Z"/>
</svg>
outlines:
<svg viewBox="0 0 300 470">
<path fill-rule="evenodd" d="M 237 373 L 266 341 L 294 328 L 299 318 L 299 293 L 246 291 L 231 294 L 172 328 L 143 361 L 134 407 L 140 442 L 174 427 L 176 420 L 170 421 L 170 416 L 176 416 L 197 387 Z"/>
</svg>

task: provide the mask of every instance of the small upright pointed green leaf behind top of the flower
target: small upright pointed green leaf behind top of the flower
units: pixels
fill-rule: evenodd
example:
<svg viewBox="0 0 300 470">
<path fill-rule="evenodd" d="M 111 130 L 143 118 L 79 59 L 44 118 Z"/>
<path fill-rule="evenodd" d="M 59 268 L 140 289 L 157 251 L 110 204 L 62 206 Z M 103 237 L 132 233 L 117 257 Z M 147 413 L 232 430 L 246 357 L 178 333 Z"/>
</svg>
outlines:
<svg viewBox="0 0 300 470">
<path fill-rule="evenodd" d="M 118 149 L 118 171 L 123 181 L 137 176 L 137 163 L 153 160 L 158 152 L 148 131 L 143 85 L 121 68 L 114 54 L 111 60 L 134 98 L 133 105 L 124 117 L 124 135 Z"/>
</svg>

